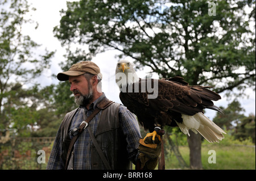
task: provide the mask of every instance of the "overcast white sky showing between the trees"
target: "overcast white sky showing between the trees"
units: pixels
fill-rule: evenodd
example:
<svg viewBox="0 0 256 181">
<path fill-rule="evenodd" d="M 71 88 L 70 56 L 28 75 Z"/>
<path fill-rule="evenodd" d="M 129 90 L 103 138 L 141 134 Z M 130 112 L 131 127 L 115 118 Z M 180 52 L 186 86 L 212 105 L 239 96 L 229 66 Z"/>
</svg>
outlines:
<svg viewBox="0 0 256 181">
<path fill-rule="evenodd" d="M 31 11 L 30 18 L 39 23 L 38 28 L 35 30 L 35 24 L 30 24 L 29 26 L 23 27 L 24 34 L 30 35 L 31 39 L 34 40 L 38 44 L 42 44 L 39 48 L 40 50 L 44 50 L 47 48 L 49 51 L 56 50 L 55 56 L 52 58 L 51 69 L 44 71 L 43 75 L 40 77 L 40 83 L 42 86 L 50 85 L 51 83 L 57 83 L 56 78 L 52 78 L 51 75 L 61 72 L 59 63 L 64 61 L 65 58 L 63 55 L 65 54 L 65 48 L 61 47 L 60 41 L 53 36 L 53 27 L 59 25 L 60 21 L 60 10 L 67 9 L 66 1 L 64 0 L 28 0 L 28 3 L 31 3 L 31 7 L 35 7 L 36 11 Z M 86 48 L 86 47 L 85 47 Z M 103 74 L 102 79 L 102 89 L 105 92 L 106 96 L 113 100 L 114 102 L 121 103 L 119 100 L 119 90 L 117 85 L 115 85 L 115 66 L 117 64 L 117 58 L 115 55 L 118 54 L 116 50 L 109 50 L 105 53 L 97 54 L 96 57 L 93 58 L 93 62 L 96 63 Z M 131 60 L 129 57 L 127 60 Z M 146 76 L 148 69 L 144 69 L 143 71 L 138 71 L 137 74 L 139 77 L 144 78 Z M 153 78 L 158 78 L 157 75 Z M 69 90 L 67 90 L 69 91 Z M 245 108 L 246 115 L 249 113 L 254 113 L 255 115 L 255 91 L 246 90 L 250 95 L 249 99 L 241 98 L 238 99 L 242 104 L 243 108 Z M 216 106 L 224 106 L 226 107 L 232 100 L 226 100 L 221 94 L 222 99 L 215 102 Z M 212 110 L 207 110 L 206 115 L 212 119 L 216 112 Z"/>
</svg>

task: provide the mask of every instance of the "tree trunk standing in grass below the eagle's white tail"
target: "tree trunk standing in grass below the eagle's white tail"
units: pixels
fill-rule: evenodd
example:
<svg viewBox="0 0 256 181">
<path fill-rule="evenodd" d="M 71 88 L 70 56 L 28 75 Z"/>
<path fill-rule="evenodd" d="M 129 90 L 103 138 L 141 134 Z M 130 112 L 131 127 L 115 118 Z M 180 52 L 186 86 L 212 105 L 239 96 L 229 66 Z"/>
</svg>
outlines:
<svg viewBox="0 0 256 181">
<path fill-rule="evenodd" d="M 189 161 L 191 169 L 203 169 L 201 161 L 201 135 L 189 130 L 188 146 L 190 150 Z"/>
</svg>

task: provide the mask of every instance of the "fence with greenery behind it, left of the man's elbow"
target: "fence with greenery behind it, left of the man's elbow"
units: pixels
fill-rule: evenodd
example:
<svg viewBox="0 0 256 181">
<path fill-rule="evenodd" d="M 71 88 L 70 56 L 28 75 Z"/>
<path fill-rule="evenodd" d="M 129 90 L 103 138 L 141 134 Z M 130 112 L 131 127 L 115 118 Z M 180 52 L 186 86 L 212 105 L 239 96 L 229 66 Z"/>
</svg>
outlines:
<svg viewBox="0 0 256 181">
<path fill-rule="evenodd" d="M 0 169 L 46 169 L 54 140 L 55 137 L 10 138 L 0 145 Z"/>
</svg>

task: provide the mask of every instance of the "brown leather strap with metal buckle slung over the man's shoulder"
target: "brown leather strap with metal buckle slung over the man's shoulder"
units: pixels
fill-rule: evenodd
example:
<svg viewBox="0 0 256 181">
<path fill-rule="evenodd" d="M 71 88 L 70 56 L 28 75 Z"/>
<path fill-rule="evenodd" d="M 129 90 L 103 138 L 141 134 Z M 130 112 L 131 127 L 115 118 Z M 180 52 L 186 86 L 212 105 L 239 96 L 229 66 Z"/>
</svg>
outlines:
<svg viewBox="0 0 256 181">
<path fill-rule="evenodd" d="M 110 106 L 110 104 L 112 104 L 113 101 L 109 100 L 108 98 L 105 98 L 103 100 L 101 100 L 100 103 L 97 104 L 97 107 L 95 108 L 95 110 L 90 114 L 89 117 L 87 117 L 87 119 L 85 121 L 82 121 L 81 125 L 79 126 L 79 133 L 76 134 L 76 136 L 74 136 L 69 144 L 69 148 L 68 148 L 68 153 L 67 153 L 67 159 L 66 159 L 66 163 L 65 163 L 65 169 L 67 170 L 68 168 L 68 162 L 69 162 L 69 158 L 70 158 L 70 154 L 71 151 L 73 149 L 73 146 L 77 140 L 77 138 L 79 137 L 79 135 L 82 133 L 82 131 L 84 131 L 84 128 L 86 126 L 86 123 L 88 125 L 88 123 L 90 122 L 90 120 L 93 119 L 93 117 L 95 115 L 97 115 L 98 112 L 100 112 L 101 110 L 104 110 L 105 108 L 107 108 L 108 106 Z M 86 123 L 85 123 L 86 122 Z M 89 130 L 89 129 L 88 129 Z M 95 146 L 95 145 L 94 145 Z"/>
</svg>

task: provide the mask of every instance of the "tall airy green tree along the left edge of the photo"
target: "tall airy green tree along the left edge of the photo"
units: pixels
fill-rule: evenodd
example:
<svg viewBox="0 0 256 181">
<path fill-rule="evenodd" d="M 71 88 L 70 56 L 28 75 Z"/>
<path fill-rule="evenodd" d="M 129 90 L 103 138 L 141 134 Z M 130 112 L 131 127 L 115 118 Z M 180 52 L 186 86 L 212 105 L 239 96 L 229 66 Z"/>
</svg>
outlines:
<svg viewBox="0 0 256 181">
<path fill-rule="evenodd" d="M 49 68 L 54 52 L 36 54 L 40 45 L 22 34 L 24 16 L 30 6 L 26 0 L 0 1 L 0 128 L 27 129 L 39 119 L 35 104 L 38 85 L 33 82 Z M 34 10 L 34 9 L 32 9 Z M 23 86 L 30 83 L 31 88 Z M 19 132 L 20 135 L 26 133 Z"/>
</svg>

